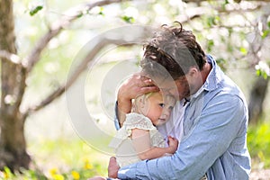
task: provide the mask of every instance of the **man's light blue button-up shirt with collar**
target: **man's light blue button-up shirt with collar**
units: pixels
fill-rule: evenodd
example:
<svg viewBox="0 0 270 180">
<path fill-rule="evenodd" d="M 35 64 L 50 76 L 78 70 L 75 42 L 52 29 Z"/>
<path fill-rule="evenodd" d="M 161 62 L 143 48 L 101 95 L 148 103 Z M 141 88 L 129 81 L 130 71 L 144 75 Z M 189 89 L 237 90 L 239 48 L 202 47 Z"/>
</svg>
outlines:
<svg viewBox="0 0 270 180">
<path fill-rule="evenodd" d="M 196 180 L 205 173 L 210 180 L 248 179 L 246 100 L 211 56 L 208 61 L 211 72 L 185 107 L 184 135 L 175 154 L 121 167 L 120 179 Z"/>
</svg>

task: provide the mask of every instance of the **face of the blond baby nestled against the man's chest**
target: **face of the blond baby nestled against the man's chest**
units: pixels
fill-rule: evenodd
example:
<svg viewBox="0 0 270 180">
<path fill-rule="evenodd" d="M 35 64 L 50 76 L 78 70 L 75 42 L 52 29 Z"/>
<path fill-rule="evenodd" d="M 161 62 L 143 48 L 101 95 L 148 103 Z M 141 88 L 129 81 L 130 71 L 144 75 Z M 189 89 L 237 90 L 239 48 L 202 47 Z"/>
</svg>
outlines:
<svg viewBox="0 0 270 180">
<path fill-rule="evenodd" d="M 163 98 L 161 93 L 155 93 L 148 97 L 148 112 L 145 114 L 154 125 L 164 124 L 170 117 L 175 105 L 175 98 L 166 95 Z"/>
</svg>

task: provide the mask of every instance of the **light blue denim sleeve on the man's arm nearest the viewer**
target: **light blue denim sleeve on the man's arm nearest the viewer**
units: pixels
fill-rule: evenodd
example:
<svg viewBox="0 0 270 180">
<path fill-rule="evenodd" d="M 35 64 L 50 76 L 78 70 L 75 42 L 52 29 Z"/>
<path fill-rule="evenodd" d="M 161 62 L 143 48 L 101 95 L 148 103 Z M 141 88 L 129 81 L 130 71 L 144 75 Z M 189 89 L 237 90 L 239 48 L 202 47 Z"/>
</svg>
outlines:
<svg viewBox="0 0 270 180">
<path fill-rule="evenodd" d="M 218 95 L 202 109 L 191 133 L 184 137 L 173 156 L 121 167 L 118 176 L 120 179 L 200 179 L 229 148 L 245 116 L 245 104 L 237 95 Z"/>
</svg>

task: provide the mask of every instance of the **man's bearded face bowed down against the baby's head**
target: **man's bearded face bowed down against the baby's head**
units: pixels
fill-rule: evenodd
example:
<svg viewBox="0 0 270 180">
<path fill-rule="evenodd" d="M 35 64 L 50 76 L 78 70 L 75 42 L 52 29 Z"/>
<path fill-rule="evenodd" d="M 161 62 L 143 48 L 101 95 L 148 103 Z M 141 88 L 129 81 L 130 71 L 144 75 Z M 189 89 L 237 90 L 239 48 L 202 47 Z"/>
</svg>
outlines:
<svg viewBox="0 0 270 180">
<path fill-rule="evenodd" d="M 185 76 L 180 76 L 175 80 L 157 80 L 157 86 L 162 94 L 171 94 L 178 100 L 190 96 L 190 86 Z"/>
</svg>

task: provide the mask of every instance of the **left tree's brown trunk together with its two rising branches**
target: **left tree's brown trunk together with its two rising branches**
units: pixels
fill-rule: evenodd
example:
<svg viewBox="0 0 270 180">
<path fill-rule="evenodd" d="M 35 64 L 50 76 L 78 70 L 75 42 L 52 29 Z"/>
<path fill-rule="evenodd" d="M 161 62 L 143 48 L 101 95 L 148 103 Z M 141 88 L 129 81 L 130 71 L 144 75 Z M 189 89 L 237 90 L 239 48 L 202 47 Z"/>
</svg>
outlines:
<svg viewBox="0 0 270 180">
<path fill-rule="evenodd" d="M 85 4 L 85 7 L 78 6 L 74 9 L 72 15 L 63 15 L 58 23 L 53 24 L 48 33 L 46 33 L 36 44 L 27 63 L 13 62 L 11 59 L 1 58 L 1 106 L 0 106 L 0 169 L 4 166 L 10 167 L 11 170 L 28 168 L 31 157 L 26 152 L 26 142 L 24 138 L 24 121 L 28 114 L 35 112 L 51 103 L 60 94 L 65 92 L 72 85 L 78 71 L 72 76 L 72 79 L 58 88 L 57 91 L 49 94 L 48 98 L 41 101 L 37 106 L 30 107 L 26 112 L 20 112 L 20 105 L 23 100 L 25 91 L 25 79 L 32 67 L 39 61 L 40 53 L 49 40 L 58 35 L 64 26 L 76 20 L 85 10 L 90 10 L 94 6 L 120 3 L 123 0 L 103 0 Z M 103 43 L 103 42 L 101 42 Z M 0 50 L 6 54 L 17 53 L 14 35 L 14 12 L 13 0 L 0 0 Z M 93 55 L 93 54 L 92 54 Z M 91 56 L 91 54 L 90 54 Z M 24 67 L 23 67 L 24 66 Z M 27 66 L 27 67 L 25 67 Z M 81 69 L 83 70 L 83 69 Z"/>
</svg>

